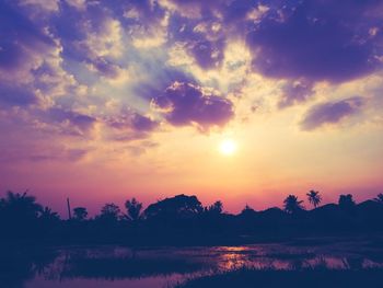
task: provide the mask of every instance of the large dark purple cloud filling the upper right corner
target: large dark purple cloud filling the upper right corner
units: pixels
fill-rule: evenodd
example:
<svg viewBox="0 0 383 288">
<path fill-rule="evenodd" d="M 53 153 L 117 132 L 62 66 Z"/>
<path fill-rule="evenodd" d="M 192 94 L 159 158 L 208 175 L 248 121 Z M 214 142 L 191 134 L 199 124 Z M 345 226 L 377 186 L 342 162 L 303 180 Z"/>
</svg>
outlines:
<svg viewBox="0 0 383 288">
<path fill-rule="evenodd" d="M 307 0 L 271 10 L 246 37 L 254 69 L 274 78 L 332 82 L 372 72 L 380 66 L 379 35 L 369 33 L 375 23 L 368 11 L 379 2 Z"/>
</svg>

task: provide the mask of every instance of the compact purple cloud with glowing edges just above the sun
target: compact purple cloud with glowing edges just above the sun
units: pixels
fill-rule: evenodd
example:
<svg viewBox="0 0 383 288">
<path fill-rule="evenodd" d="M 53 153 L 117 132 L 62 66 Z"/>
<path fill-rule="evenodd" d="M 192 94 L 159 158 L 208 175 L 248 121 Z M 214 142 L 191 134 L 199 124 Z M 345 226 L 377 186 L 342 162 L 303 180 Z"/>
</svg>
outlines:
<svg viewBox="0 0 383 288">
<path fill-rule="evenodd" d="M 222 126 L 233 117 L 231 101 L 185 82 L 174 82 L 163 94 L 153 99 L 153 104 L 175 126 L 196 124 L 209 128 Z"/>
</svg>

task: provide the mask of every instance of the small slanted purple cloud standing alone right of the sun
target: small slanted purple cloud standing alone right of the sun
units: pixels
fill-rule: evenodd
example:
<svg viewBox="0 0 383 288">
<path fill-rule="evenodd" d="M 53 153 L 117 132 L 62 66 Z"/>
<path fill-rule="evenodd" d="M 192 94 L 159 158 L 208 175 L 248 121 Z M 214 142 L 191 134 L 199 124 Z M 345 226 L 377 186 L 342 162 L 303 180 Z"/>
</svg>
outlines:
<svg viewBox="0 0 383 288">
<path fill-rule="evenodd" d="M 301 128 L 314 130 L 325 124 L 336 124 L 360 112 L 362 105 L 363 99 L 358 96 L 315 105 L 304 116 Z"/>
</svg>

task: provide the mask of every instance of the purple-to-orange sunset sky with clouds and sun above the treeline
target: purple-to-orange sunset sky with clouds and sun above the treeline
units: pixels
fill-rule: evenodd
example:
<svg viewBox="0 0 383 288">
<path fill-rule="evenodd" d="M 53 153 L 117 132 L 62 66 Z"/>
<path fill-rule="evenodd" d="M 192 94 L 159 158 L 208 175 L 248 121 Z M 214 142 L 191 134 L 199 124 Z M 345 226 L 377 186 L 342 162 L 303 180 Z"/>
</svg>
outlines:
<svg viewBox="0 0 383 288">
<path fill-rule="evenodd" d="M 365 200 L 382 68 L 379 0 L 0 0 L 0 195 Z"/>
</svg>

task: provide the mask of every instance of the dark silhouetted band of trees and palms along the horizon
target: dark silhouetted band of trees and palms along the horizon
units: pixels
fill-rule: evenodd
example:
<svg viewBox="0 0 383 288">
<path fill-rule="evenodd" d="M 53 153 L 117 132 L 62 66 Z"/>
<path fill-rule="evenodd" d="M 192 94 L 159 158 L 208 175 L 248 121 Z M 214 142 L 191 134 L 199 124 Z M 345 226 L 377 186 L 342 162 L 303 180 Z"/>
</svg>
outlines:
<svg viewBox="0 0 383 288">
<path fill-rule="evenodd" d="M 289 195 L 283 209 L 256 211 L 245 206 L 239 215 L 224 212 L 218 200 L 204 207 L 196 196 L 176 195 L 150 204 L 146 209 L 136 198 L 126 200 L 126 212 L 113 203 L 89 217 L 85 207 L 72 209 L 73 218 L 60 219 L 49 207 L 24 193 L 8 192 L 0 199 L 0 242 L 51 244 L 235 244 L 297 237 L 349 235 L 383 232 L 382 194 L 356 204 L 351 194 L 338 204 L 320 206 L 322 197 L 310 191 L 303 200 Z"/>
</svg>

